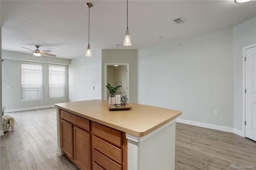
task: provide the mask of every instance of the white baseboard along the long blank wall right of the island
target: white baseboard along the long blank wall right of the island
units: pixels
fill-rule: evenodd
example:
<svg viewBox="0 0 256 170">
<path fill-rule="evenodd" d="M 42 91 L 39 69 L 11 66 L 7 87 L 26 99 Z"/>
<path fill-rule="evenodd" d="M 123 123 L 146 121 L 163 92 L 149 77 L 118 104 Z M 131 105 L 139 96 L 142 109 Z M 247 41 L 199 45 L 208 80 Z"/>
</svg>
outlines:
<svg viewBox="0 0 256 170">
<path fill-rule="evenodd" d="M 225 131 L 225 132 L 234 133 L 234 128 L 231 128 L 231 127 L 224 127 L 224 126 L 220 126 L 220 125 L 212 125 L 212 124 L 208 124 L 208 123 L 189 121 L 189 120 L 185 120 L 185 119 L 177 119 L 176 122 L 185 123 L 185 124 L 188 124 L 188 125 L 194 125 L 194 126 L 198 126 L 198 127 L 204 127 L 204 128 L 210 128 L 210 129 L 215 129 L 215 130 L 221 130 L 221 131 Z"/>
</svg>

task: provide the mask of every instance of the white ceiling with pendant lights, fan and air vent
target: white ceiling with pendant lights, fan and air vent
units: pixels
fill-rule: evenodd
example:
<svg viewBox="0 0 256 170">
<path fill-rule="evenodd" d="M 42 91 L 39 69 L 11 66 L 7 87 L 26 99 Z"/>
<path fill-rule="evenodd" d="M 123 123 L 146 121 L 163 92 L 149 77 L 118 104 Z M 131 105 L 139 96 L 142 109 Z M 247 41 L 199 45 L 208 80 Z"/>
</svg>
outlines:
<svg viewBox="0 0 256 170">
<path fill-rule="evenodd" d="M 140 49 L 190 36 L 232 28 L 256 16 L 256 1 L 234 0 L 129 0 L 128 28 L 132 46 L 121 45 L 126 32 L 126 0 L 0 0 L 2 50 L 22 47 L 50 49 L 51 54 L 72 59 L 92 57 L 99 49 Z M 185 22 L 172 20 L 182 17 Z M 163 37 L 163 38 L 159 38 Z M 120 44 L 120 45 L 116 45 Z"/>
</svg>

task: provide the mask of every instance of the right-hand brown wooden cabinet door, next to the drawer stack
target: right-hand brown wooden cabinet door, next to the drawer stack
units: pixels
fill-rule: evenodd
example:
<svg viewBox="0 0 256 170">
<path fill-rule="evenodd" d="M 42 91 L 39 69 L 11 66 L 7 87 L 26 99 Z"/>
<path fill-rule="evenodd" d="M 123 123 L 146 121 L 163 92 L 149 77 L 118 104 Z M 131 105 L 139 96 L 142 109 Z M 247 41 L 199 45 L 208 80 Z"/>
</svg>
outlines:
<svg viewBox="0 0 256 170">
<path fill-rule="evenodd" d="M 83 170 L 91 169 L 90 133 L 74 126 L 74 162 Z"/>
</svg>

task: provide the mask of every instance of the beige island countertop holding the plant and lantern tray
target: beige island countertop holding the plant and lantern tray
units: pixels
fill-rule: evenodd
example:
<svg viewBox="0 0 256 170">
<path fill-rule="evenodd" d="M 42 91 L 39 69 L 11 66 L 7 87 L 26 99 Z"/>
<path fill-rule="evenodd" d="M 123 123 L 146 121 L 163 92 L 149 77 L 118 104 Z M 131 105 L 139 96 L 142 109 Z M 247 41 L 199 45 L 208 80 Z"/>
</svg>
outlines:
<svg viewBox="0 0 256 170">
<path fill-rule="evenodd" d="M 145 136 L 182 115 L 172 109 L 128 104 L 132 109 L 125 111 L 109 111 L 108 100 L 57 103 L 55 107 L 135 136 Z"/>
</svg>

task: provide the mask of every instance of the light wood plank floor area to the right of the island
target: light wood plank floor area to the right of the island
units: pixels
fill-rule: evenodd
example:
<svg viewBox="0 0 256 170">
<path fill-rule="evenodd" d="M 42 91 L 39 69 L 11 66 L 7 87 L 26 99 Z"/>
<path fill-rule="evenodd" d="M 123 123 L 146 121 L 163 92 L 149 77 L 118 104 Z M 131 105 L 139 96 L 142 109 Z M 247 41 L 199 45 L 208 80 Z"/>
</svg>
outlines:
<svg viewBox="0 0 256 170">
<path fill-rule="evenodd" d="M 175 170 L 256 169 L 256 142 L 230 132 L 176 123 Z"/>
</svg>

